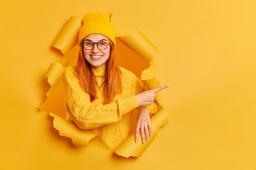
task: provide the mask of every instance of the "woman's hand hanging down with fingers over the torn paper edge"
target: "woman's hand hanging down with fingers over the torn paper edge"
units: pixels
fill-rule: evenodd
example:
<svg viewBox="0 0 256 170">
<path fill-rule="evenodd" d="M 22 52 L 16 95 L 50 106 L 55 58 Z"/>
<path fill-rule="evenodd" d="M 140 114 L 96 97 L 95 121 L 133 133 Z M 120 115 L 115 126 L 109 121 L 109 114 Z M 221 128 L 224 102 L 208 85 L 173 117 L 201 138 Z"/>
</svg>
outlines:
<svg viewBox="0 0 256 170">
<path fill-rule="evenodd" d="M 148 111 L 148 108 L 146 107 L 139 108 L 139 112 L 137 116 L 136 131 L 135 131 L 136 142 L 138 141 L 139 130 L 141 133 L 141 141 L 144 144 L 145 136 L 146 136 L 146 141 L 148 141 L 148 136 L 152 135 L 149 111 Z"/>
</svg>

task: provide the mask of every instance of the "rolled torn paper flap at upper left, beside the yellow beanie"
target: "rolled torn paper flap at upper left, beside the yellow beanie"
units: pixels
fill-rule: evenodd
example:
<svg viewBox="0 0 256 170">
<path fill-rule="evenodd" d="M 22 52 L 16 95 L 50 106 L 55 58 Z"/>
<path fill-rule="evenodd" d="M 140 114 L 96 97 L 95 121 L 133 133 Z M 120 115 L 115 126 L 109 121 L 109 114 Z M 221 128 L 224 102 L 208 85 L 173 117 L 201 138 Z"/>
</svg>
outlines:
<svg viewBox="0 0 256 170">
<path fill-rule="evenodd" d="M 63 54 L 70 51 L 78 42 L 79 30 L 82 26 L 83 16 L 70 17 L 63 29 L 54 40 L 52 46 L 61 50 Z"/>
</svg>

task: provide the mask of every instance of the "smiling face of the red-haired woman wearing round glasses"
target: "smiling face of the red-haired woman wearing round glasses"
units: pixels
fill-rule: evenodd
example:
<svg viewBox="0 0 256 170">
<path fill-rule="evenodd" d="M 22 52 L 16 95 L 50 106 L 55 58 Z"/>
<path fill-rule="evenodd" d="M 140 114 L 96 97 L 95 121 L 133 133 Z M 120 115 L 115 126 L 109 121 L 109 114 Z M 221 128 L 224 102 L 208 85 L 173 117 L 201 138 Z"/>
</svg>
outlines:
<svg viewBox="0 0 256 170">
<path fill-rule="evenodd" d="M 100 34 L 91 34 L 83 39 L 83 55 L 85 60 L 91 64 L 92 69 L 97 69 L 106 66 L 110 56 L 110 45 L 105 50 L 100 50 L 97 44 L 94 44 L 92 50 L 86 50 L 84 44 L 86 42 L 106 42 L 109 44 L 109 39 Z"/>
</svg>

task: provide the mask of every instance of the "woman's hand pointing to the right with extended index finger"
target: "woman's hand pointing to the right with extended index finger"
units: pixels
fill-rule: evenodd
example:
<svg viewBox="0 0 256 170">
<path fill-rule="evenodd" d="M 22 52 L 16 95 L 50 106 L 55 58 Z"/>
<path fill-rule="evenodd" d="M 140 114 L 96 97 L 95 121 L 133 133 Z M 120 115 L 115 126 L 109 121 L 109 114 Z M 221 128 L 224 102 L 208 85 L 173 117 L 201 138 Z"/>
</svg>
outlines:
<svg viewBox="0 0 256 170">
<path fill-rule="evenodd" d="M 136 98 L 139 106 L 153 104 L 155 97 L 157 96 L 157 92 L 167 87 L 169 87 L 169 85 L 160 86 L 137 94 Z"/>
</svg>

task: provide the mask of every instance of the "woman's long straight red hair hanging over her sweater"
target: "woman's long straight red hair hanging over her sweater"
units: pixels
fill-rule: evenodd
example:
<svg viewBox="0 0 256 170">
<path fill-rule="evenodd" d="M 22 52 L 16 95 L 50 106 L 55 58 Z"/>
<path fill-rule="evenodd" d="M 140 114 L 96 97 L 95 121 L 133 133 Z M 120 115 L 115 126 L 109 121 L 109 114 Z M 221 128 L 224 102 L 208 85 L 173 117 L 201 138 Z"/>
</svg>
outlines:
<svg viewBox="0 0 256 170">
<path fill-rule="evenodd" d="M 80 44 L 76 72 L 79 75 L 80 85 L 85 93 L 89 94 L 91 101 L 97 99 L 97 81 L 90 63 L 85 60 L 83 55 L 83 40 Z M 122 91 L 121 71 L 115 64 L 115 47 L 112 41 L 110 41 L 110 56 L 106 64 L 104 82 L 101 87 L 104 88 L 105 104 L 110 103 L 115 98 L 115 95 Z"/>
</svg>

